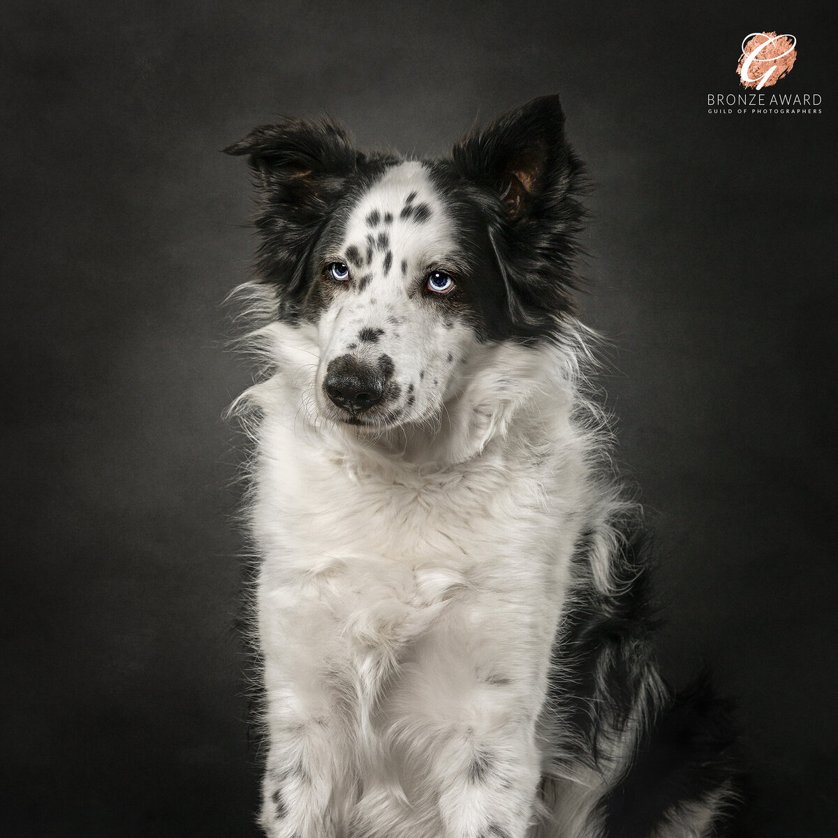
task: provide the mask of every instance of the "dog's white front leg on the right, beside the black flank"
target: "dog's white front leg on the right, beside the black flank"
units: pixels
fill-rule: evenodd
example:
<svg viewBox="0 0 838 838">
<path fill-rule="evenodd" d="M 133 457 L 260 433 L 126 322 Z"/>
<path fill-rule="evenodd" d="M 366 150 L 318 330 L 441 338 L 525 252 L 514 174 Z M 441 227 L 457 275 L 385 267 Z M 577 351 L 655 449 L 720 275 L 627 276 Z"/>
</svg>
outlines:
<svg viewBox="0 0 838 838">
<path fill-rule="evenodd" d="M 524 838 L 532 822 L 551 630 L 522 613 L 455 605 L 404 667 L 396 747 L 442 838 Z"/>
</svg>

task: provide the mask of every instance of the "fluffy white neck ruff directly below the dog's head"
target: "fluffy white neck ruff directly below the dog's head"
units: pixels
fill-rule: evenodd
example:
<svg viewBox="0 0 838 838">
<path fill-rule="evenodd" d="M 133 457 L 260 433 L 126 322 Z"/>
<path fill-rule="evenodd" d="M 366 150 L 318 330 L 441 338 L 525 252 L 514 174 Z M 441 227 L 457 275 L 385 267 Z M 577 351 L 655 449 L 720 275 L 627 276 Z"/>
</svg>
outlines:
<svg viewBox="0 0 838 838">
<path fill-rule="evenodd" d="M 578 416 L 591 410 L 577 389 L 578 355 L 587 354 L 582 327 L 575 346 L 486 344 L 472 354 L 453 381 L 442 410 L 422 422 L 397 427 L 347 425 L 318 415 L 313 389 L 316 335 L 308 326 L 272 323 L 258 333 L 273 374 L 242 394 L 235 410 L 261 415 L 264 428 L 285 427 L 297 439 L 294 451 L 329 452 L 347 468 L 371 468 L 413 475 L 416 482 L 453 468 L 479 466 L 485 456 L 510 458 L 556 442 L 592 444 L 578 429 Z M 513 419 L 515 420 L 513 422 Z M 265 431 L 256 432 L 264 439 Z M 285 434 L 283 434 L 285 437 Z"/>
</svg>

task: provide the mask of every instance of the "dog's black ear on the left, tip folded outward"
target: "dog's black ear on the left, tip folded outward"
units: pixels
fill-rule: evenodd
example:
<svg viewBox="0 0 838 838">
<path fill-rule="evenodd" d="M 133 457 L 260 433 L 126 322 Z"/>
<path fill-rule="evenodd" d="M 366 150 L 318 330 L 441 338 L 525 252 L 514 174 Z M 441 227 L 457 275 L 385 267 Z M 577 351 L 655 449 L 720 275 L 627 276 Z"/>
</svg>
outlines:
<svg viewBox="0 0 838 838">
<path fill-rule="evenodd" d="M 364 155 L 334 122 L 297 119 L 255 128 L 224 151 L 250 155 L 260 199 L 261 272 L 288 302 L 297 302 L 304 296 L 306 263 L 328 210 Z"/>
</svg>

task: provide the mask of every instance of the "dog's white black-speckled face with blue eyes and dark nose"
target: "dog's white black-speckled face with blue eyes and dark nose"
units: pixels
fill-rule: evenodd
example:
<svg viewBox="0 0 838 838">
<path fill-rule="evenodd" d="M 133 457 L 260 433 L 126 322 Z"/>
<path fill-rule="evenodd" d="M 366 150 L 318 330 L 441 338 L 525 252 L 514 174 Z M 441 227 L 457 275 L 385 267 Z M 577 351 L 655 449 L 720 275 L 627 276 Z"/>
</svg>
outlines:
<svg viewBox="0 0 838 838">
<path fill-rule="evenodd" d="M 318 272 L 318 409 L 382 427 L 436 414 L 471 351 L 468 265 L 422 163 L 397 163 L 326 225 Z"/>
</svg>

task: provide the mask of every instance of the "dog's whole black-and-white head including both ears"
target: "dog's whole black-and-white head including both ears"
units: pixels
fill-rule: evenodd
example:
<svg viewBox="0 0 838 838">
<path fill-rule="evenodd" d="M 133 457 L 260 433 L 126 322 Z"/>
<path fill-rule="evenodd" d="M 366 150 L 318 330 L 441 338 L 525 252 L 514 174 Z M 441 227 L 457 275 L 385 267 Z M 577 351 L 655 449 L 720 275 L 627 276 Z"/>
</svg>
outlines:
<svg viewBox="0 0 838 838">
<path fill-rule="evenodd" d="M 226 149 L 256 173 L 275 316 L 316 330 L 320 416 L 426 422 L 481 355 L 561 335 L 582 217 L 563 123 L 545 96 L 437 161 L 361 153 L 325 121 L 259 127 Z"/>
</svg>

